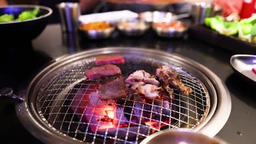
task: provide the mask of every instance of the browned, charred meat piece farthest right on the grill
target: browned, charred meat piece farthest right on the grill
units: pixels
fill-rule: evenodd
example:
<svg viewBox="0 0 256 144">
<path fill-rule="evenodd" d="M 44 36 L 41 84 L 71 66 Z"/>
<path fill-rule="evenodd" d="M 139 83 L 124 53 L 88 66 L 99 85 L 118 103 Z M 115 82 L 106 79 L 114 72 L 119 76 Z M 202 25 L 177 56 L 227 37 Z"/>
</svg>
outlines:
<svg viewBox="0 0 256 144">
<path fill-rule="evenodd" d="M 163 83 L 165 89 L 167 88 L 167 92 L 173 93 L 172 91 L 170 91 L 171 89 L 168 88 L 168 86 L 170 86 L 172 88 L 179 89 L 179 91 L 183 92 L 185 95 L 189 95 L 190 93 L 192 93 L 192 89 L 185 86 L 184 83 L 179 80 L 177 72 L 171 70 L 170 67 L 168 67 L 167 65 L 163 65 L 156 69 L 155 74 Z"/>
</svg>

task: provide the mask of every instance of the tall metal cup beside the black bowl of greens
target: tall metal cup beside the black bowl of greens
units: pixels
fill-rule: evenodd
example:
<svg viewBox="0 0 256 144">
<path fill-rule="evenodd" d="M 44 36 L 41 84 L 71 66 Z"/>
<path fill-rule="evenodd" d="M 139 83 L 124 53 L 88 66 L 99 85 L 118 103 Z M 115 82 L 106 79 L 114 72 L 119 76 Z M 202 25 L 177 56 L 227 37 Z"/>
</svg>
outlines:
<svg viewBox="0 0 256 144">
<path fill-rule="evenodd" d="M 75 32 L 78 30 L 80 7 L 78 3 L 57 4 L 61 17 L 62 32 Z"/>
</svg>

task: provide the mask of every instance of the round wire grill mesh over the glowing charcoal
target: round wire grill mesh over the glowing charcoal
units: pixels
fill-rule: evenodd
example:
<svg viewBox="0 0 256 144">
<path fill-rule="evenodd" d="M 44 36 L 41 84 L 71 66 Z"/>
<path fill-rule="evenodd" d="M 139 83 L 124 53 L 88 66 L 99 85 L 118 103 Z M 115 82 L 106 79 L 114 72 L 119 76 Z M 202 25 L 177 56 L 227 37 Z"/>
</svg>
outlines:
<svg viewBox="0 0 256 144">
<path fill-rule="evenodd" d="M 174 89 L 174 99 L 168 101 L 171 105 L 171 113 L 167 116 L 170 118 L 170 122 L 166 123 L 162 122 L 161 118 L 160 120 L 156 120 L 149 117 L 150 121 L 152 120 L 156 121 L 158 124 L 164 124 L 164 127 L 161 129 L 149 127 L 148 125 L 141 123 L 141 121 L 139 121 L 135 126 L 132 126 L 132 122 L 129 121 L 130 119 L 128 117 L 128 121 L 126 122 L 128 125 L 125 129 L 117 128 L 114 132 L 107 129 L 104 133 L 99 133 L 97 129 L 95 133 L 90 131 L 90 127 L 88 127 L 88 125 L 92 123 L 90 123 L 90 121 L 82 121 L 82 116 L 87 114 L 76 113 L 76 111 L 74 111 L 74 107 L 73 110 L 71 109 L 71 104 L 75 100 L 83 101 L 83 99 L 74 99 L 74 96 L 78 94 L 80 90 L 90 90 L 89 86 L 95 85 L 97 82 L 96 80 L 87 80 L 85 78 L 85 71 L 96 66 L 95 57 L 67 65 L 62 69 L 62 73 L 56 73 L 55 78 L 43 89 L 40 89 L 37 97 L 37 107 L 43 120 L 61 134 L 86 142 L 137 143 L 152 134 L 152 131 L 180 128 L 193 129 L 207 116 L 208 109 L 210 107 L 210 98 L 208 97 L 206 88 L 199 80 L 196 79 L 196 77 L 192 76 L 180 67 L 176 67 L 170 63 L 161 62 L 156 59 L 129 55 L 124 55 L 124 57 L 126 61 L 125 64 L 118 65 L 122 70 L 123 77 L 127 77 L 129 74 L 133 73 L 133 71 L 140 69 L 143 69 L 150 74 L 154 74 L 158 65 L 169 65 L 172 69 L 177 71 L 179 78 L 185 86 L 189 86 L 193 89 L 193 93 L 188 97 Z M 123 100 L 125 102 L 129 101 L 132 105 L 114 104 L 124 108 L 130 107 L 132 111 L 140 109 L 135 107 L 135 103 L 137 103 L 136 101 L 129 100 L 128 98 L 124 98 Z M 147 104 L 143 104 L 143 106 L 144 105 Z M 75 110 L 80 108 L 81 107 L 77 106 L 75 107 Z M 82 108 L 88 109 L 88 107 Z M 94 107 L 89 108 L 94 109 Z M 166 108 L 162 105 L 160 105 L 159 108 L 161 109 L 161 112 L 159 113 L 161 116 L 162 110 Z M 151 116 L 155 114 L 153 109 L 149 112 Z M 127 115 L 125 112 L 121 114 Z"/>
</svg>

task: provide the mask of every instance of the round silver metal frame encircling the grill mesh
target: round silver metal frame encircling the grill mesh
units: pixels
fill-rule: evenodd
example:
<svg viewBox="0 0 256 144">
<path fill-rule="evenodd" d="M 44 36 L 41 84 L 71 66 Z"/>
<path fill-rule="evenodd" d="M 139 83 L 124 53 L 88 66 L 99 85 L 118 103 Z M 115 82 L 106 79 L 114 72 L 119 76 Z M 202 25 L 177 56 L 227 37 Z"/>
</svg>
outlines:
<svg viewBox="0 0 256 144">
<path fill-rule="evenodd" d="M 77 140 L 72 139 L 71 137 L 61 135 L 60 131 L 54 130 L 54 128 L 51 128 L 51 125 L 46 124 L 44 122 L 44 119 L 41 119 L 39 116 L 39 113 L 37 112 L 35 101 L 36 101 L 36 95 L 38 92 L 38 85 L 42 84 L 42 81 L 44 81 L 44 76 L 49 76 L 53 71 L 57 69 L 57 67 L 62 67 L 62 65 L 65 65 L 69 62 L 75 61 L 80 59 L 81 57 L 91 56 L 92 53 L 94 55 L 100 55 L 100 54 L 106 54 L 106 53 L 124 53 L 124 52 L 135 52 L 135 53 L 147 53 L 150 54 L 153 58 L 156 56 L 156 54 L 160 55 L 163 59 L 170 59 L 173 61 L 176 65 L 180 64 L 184 69 L 189 69 L 189 71 L 192 71 L 190 73 L 193 73 L 194 75 L 200 75 L 200 80 L 206 81 L 203 83 L 208 83 L 209 85 L 206 86 L 207 89 L 211 90 L 211 100 L 213 100 L 213 103 L 211 103 L 211 109 L 209 110 L 209 115 L 206 117 L 205 121 L 201 122 L 200 125 L 197 125 L 195 127 L 195 131 L 201 131 L 202 133 L 205 133 L 208 136 L 214 136 L 220 128 L 223 127 L 226 120 L 228 119 L 230 110 L 231 110 L 231 103 L 230 103 L 230 96 L 228 91 L 226 91 L 225 86 L 222 84 L 222 82 L 219 80 L 219 78 L 212 73 L 212 71 L 208 70 L 207 68 L 203 67 L 199 63 L 196 63 L 194 61 L 185 59 L 181 56 L 177 56 L 174 54 L 161 52 L 161 51 L 155 51 L 155 50 L 147 50 L 147 49 L 138 49 L 138 48 L 121 48 L 121 47 L 109 47 L 105 49 L 97 49 L 97 50 L 91 50 L 86 51 L 82 53 L 77 53 L 75 55 L 67 56 L 65 58 L 59 59 L 59 61 L 51 64 L 49 67 L 42 70 L 36 78 L 31 82 L 31 85 L 28 87 L 27 91 L 27 98 L 26 103 L 27 105 L 17 105 L 16 110 L 20 111 L 20 109 L 27 109 L 29 116 L 21 116 L 18 115 L 21 119 L 22 124 L 26 125 L 28 130 L 32 131 L 34 129 L 38 130 L 38 133 L 32 133 L 33 135 L 37 136 L 38 139 L 46 142 L 46 143 L 52 143 L 59 140 L 63 140 L 67 143 L 75 143 L 78 142 Z M 56 71 L 55 71 L 56 72 Z M 60 71 L 61 72 L 61 71 Z M 196 76 L 198 77 L 198 76 Z M 210 80 L 211 79 L 211 80 Z M 45 82 L 45 81 L 44 81 Z M 218 98 L 217 99 L 217 94 Z M 212 98 L 213 97 L 213 98 Z M 219 111 L 217 108 L 217 101 L 218 101 L 218 108 L 221 107 L 222 112 Z M 221 103 L 220 103 L 221 102 Z M 225 106 L 225 110 L 223 110 L 224 104 L 229 103 L 229 106 Z M 214 115 L 215 113 L 215 115 Z M 221 121 L 218 121 L 216 124 L 217 118 L 216 113 L 218 113 L 218 117 L 221 117 Z M 19 112 L 18 112 L 19 114 Z M 214 116 L 213 116 L 214 115 Z M 23 118 L 22 118 L 23 117 Z M 30 121 L 25 121 L 24 117 L 30 117 Z M 214 118 L 214 119 L 213 119 Z M 214 121 L 213 121 L 214 120 Z M 32 126 L 28 124 L 28 122 L 32 122 Z M 206 127 L 208 125 L 208 127 Z M 215 128 L 209 128 L 212 126 Z M 219 126 L 219 128 L 216 128 L 216 126 Z M 209 133 L 209 131 L 211 132 Z M 42 135 L 39 135 L 42 134 Z M 50 137 L 44 137 L 44 135 L 52 135 Z"/>
</svg>

